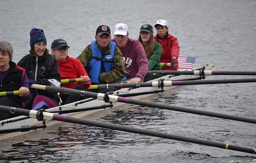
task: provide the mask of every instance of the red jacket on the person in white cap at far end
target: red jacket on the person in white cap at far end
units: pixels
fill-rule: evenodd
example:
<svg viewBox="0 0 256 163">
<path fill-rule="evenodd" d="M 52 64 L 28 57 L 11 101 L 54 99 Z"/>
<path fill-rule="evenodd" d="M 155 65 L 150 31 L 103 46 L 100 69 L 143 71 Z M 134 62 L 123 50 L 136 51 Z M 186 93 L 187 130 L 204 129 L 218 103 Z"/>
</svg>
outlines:
<svg viewBox="0 0 256 163">
<path fill-rule="evenodd" d="M 160 39 L 159 36 L 155 36 L 155 41 L 161 44 L 163 50 L 160 58 L 161 63 L 171 63 L 172 57 L 178 59 L 178 54 L 180 52 L 180 46 L 178 46 L 178 40 L 174 36 L 168 34 L 165 38 Z M 177 66 L 163 66 L 162 70 L 177 70 Z"/>
</svg>

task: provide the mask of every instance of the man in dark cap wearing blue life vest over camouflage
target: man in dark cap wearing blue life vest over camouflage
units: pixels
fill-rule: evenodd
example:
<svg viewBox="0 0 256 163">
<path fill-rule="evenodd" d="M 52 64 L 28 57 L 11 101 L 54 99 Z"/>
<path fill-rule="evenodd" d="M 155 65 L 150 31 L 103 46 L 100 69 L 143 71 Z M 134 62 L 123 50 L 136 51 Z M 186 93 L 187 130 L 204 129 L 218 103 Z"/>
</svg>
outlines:
<svg viewBox="0 0 256 163">
<path fill-rule="evenodd" d="M 100 25 L 96 30 L 95 41 L 86 46 L 76 58 L 85 67 L 93 85 L 116 83 L 126 80 L 125 65 L 116 43 L 111 41 L 110 28 Z M 106 93 L 116 89 L 90 90 Z M 88 90 L 89 91 L 89 90 Z"/>
</svg>

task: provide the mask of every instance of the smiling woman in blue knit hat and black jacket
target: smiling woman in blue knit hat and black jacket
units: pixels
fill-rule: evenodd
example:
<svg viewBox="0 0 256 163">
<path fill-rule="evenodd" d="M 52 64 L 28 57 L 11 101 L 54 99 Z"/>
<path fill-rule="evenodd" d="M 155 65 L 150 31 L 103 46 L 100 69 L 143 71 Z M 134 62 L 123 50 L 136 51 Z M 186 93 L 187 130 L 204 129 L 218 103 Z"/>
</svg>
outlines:
<svg viewBox="0 0 256 163">
<path fill-rule="evenodd" d="M 33 28 L 30 31 L 30 50 L 19 62 L 29 79 L 29 87 L 33 84 L 45 86 L 60 86 L 60 77 L 57 60 L 49 53 L 46 47 L 47 39 L 43 29 Z M 61 100 L 58 93 L 47 92 L 30 88 L 32 101 L 25 104 L 25 109 L 47 109 L 57 107 Z"/>
</svg>

